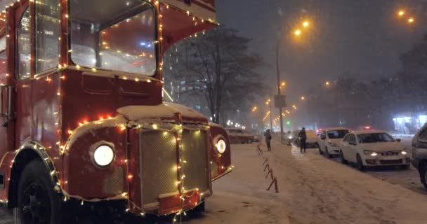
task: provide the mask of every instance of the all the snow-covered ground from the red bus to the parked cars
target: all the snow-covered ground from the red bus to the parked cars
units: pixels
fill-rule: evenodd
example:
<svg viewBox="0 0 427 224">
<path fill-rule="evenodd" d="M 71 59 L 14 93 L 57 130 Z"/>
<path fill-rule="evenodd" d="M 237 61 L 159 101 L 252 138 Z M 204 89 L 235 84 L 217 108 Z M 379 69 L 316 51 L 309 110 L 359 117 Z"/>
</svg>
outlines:
<svg viewBox="0 0 427 224">
<path fill-rule="evenodd" d="M 270 180 L 265 179 L 263 158 L 268 158 L 277 176 L 280 193 L 265 190 Z M 362 173 L 324 158 L 317 149 L 301 154 L 275 141 L 272 152 L 262 156 L 256 153 L 256 144 L 232 145 L 232 162 L 233 172 L 213 183 L 206 214 L 183 223 L 421 224 L 427 220 L 423 211 L 427 195 L 404 184 L 416 174 L 414 170 Z M 386 176 L 384 181 L 381 175 Z"/>
</svg>

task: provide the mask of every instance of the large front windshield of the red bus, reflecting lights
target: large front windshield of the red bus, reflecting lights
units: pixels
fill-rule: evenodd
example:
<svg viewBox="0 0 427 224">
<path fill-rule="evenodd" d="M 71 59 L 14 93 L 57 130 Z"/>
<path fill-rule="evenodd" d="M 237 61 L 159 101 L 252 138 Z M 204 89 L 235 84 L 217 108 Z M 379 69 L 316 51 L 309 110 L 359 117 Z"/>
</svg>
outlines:
<svg viewBox="0 0 427 224">
<path fill-rule="evenodd" d="M 103 6 L 102 10 L 96 10 Z M 71 0 L 75 64 L 152 76 L 156 70 L 155 10 L 140 0 Z"/>
</svg>

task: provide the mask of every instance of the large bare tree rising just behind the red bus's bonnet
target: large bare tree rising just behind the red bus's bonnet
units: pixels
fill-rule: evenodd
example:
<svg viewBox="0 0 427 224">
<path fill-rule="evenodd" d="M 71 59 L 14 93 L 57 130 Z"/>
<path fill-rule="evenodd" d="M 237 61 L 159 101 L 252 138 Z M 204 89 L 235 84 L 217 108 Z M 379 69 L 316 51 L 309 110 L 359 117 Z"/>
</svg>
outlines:
<svg viewBox="0 0 427 224">
<path fill-rule="evenodd" d="M 249 105 L 265 89 L 255 71 L 261 59 L 249 52 L 250 41 L 235 29 L 218 27 L 188 38 L 169 55 L 179 54 L 180 62 L 169 61 L 177 76 L 191 86 L 185 94 L 203 97 L 214 123 L 221 122 L 223 113 Z"/>
</svg>

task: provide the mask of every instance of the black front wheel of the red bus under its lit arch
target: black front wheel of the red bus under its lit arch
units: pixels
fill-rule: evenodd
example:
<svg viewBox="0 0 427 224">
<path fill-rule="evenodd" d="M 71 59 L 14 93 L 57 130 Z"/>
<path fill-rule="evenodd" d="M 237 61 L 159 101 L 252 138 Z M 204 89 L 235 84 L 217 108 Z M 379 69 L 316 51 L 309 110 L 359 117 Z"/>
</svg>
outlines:
<svg viewBox="0 0 427 224">
<path fill-rule="evenodd" d="M 18 186 L 20 224 L 62 223 L 60 205 L 60 195 L 53 190 L 46 167 L 39 160 L 29 162 Z"/>
</svg>

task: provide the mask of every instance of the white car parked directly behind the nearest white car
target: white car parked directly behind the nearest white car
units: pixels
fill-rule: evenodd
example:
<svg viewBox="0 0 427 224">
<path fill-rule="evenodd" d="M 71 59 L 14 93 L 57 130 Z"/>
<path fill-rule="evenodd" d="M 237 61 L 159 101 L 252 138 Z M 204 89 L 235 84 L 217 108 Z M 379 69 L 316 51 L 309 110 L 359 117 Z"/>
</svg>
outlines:
<svg viewBox="0 0 427 224">
<path fill-rule="evenodd" d="M 322 130 L 319 140 L 319 153 L 327 158 L 339 155 L 339 146 L 348 132 L 350 129 L 346 127 L 328 127 Z"/>
</svg>

